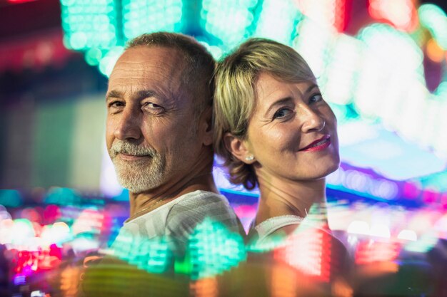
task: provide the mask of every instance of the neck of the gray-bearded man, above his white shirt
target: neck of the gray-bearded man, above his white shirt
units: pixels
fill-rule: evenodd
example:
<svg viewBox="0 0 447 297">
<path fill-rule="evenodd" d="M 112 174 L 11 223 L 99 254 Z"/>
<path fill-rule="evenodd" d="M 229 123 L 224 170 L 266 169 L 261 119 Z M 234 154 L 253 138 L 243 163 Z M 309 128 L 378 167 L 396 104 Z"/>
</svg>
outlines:
<svg viewBox="0 0 447 297">
<path fill-rule="evenodd" d="M 196 166 L 186 176 L 173 177 L 154 189 L 141 193 L 129 192 L 130 217 L 139 217 L 196 190 L 219 193 L 212 174 L 213 160 L 202 163 L 203 165 Z"/>
</svg>

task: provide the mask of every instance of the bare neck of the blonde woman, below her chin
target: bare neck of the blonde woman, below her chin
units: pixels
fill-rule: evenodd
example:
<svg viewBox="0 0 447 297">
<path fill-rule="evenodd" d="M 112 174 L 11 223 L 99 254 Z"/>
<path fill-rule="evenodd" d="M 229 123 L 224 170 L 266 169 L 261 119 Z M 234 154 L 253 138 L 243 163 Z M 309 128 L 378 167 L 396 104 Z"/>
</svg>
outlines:
<svg viewBox="0 0 447 297">
<path fill-rule="evenodd" d="M 293 214 L 306 217 L 313 204 L 326 205 L 325 179 L 297 181 L 258 174 L 256 225 L 271 217 Z"/>
</svg>

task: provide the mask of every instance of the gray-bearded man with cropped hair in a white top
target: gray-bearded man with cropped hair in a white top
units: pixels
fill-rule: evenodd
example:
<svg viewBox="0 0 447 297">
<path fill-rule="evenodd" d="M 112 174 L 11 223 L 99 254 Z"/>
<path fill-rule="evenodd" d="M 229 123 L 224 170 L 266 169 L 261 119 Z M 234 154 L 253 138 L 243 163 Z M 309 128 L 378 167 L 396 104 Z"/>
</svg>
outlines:
<svg viewBox="0 0 447 297">
<path fill-rule="evenodd" d="M 116 255 L 166 237 L 183 256 L 207 217 L 239 230 L 211 174 L 213 72 L 206 49 L 176 33 L 139 36 L 116 62 L 106 94 L 106 143 L 130 199 L 130 217 L 112 246 Z"/>
</svg>

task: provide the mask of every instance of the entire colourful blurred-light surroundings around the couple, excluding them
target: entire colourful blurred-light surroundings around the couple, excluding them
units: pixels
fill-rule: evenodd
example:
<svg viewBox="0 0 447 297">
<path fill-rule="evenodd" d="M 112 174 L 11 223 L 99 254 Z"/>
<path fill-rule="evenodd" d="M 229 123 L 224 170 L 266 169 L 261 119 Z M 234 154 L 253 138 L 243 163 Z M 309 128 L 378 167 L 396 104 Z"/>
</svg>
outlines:
<svg viewBox="0 0 447 297">
<path fill-rule="evenodd" d="M 96 254 L 123 261 L 86 274 L 86 290 L 96 296 L 101 290 L 110 296 L 121 283 L 131 286 L 129 280 L 114 282 L 128 276 L 139 283 L 129 291 L 136 295 L 149 285 L 166 296 L 236 296 L 248 288 L 253 296 L 256 290 L 296 296 L 314 290 L 312 283 L 335 296 L 447 291 L 442 2 L 9 0 L 0 11 L 54 2 L 60 28 L 36 36 L 19 35 L 15 27 L 24 24 L 1 29 L 0 296 L 78 296 L 83 261 Z M 205 221 L 191 234 L 182 261 L 172 258 L 166 238 L 115 241 L 129 206 L 104 145 L 106 78 L 127 41 L 154 31 L 194 36 L 218 59 L 252 36 L 301 53 L 338 118 L 342 163 L 327 179 L 329 226 L 299 229 L 279 246 L 252 246 Z M 220 160 L 214 177 L 247 230 L 258 189 L 247 192 L 228 182 Z M 348 249 L 354 288 L 333 279 L 338 241 L 328 228 Z M 275 264 L 250 261 L 270 252 Z M 107 265 L 127 274 L 110 274 Z M 171 266 L 193 282 L 164 278 Z M 256 277 L 268 281 L 256 283 Z M 98 287 L 104 279 L 110 286 Z M 385 288 L 387 280 L 393 286 Z"/>
</svg>

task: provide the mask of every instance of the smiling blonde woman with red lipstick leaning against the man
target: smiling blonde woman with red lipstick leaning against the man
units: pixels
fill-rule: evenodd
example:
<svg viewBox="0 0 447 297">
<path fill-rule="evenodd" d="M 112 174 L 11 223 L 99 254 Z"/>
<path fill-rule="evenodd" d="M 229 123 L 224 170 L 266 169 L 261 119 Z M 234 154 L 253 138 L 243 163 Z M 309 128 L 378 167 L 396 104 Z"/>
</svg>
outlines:
<svg viewBox="0 0 447 297">
<path fill-rule="evenodd" d="M 248 236 L 291 234 L 312 205 L 326 205 L 325 177 L 340 162 L 336 117 L 306 61 L 275 41 L 243 43 L 216 82 L 216 153 L 231 182 L 261 194 Z"/>
</svg>

